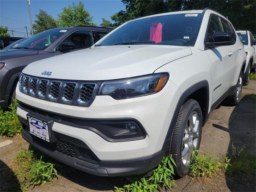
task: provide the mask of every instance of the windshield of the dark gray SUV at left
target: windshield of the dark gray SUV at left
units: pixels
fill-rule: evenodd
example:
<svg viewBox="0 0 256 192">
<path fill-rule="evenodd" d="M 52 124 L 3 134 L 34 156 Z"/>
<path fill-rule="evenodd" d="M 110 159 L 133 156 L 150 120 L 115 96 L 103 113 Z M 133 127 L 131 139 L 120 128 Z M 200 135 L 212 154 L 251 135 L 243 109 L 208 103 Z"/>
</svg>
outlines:
<svg viewBox="0 0 256 192">
<path fill-rule="evenodd" d="M 14 48 L 43 50 L 47 48 L 50 44 L 52 44 L 56 39 L 58 39 L 66 31 L 67 30 L 62 30 L 62 29 L 50 29 L 47 31 L 43 31 L 24 40 Z"/>
</svg>

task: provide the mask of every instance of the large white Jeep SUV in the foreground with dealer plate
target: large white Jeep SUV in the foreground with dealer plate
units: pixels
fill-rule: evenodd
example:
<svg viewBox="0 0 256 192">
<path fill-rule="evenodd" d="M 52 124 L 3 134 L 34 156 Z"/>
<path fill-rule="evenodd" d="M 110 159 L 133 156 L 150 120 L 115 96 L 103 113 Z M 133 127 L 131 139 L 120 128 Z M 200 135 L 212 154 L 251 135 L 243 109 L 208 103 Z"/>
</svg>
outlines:
<svg viewBox="0 0 256 192">
<path fill-rule="evenodd" d="M 213 10 L 131 20 L 87 50 L 24 68 L 22 136 L 100 176 L 144 174 L 172 154 L 182 177 L 210 112 L 240 101 L 245 64 L 232 24 Z"/>
</svg>

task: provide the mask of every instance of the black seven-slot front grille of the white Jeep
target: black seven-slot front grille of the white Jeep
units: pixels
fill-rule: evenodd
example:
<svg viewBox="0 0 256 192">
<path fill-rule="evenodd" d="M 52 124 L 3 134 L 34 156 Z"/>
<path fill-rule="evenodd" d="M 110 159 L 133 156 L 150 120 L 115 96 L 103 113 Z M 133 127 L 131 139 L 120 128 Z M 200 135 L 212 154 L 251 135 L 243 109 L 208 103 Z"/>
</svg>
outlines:
<svg viewBox="0 0 256 192">
<path fill-rule="evenodd" d="M 51 102 L 89 106 L 100 82 L 45 79 L 21 74 L 19 90 L 30 96 Z"/>
</svg>

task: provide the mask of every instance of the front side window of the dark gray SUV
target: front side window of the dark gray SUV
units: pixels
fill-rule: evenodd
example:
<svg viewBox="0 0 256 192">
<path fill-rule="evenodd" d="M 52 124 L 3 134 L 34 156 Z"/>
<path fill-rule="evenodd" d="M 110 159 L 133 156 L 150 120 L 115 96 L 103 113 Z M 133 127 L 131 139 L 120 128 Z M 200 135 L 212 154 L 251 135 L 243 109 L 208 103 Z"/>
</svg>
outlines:
<svg viewBox="0 0 256 192">
<path fill-rule="evenodd" d="M 72 42 L 75 49 L 85 49 L 93 45 L 91 31 L 76 31 L 68 36 L 63 42 Z"/>
</svg>

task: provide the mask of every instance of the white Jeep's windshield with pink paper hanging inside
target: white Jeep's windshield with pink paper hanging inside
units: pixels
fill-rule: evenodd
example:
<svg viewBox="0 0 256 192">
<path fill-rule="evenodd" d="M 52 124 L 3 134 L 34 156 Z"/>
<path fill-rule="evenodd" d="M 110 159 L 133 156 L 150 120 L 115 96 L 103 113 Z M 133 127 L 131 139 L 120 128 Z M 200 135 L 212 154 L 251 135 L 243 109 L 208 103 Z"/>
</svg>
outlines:
<svg viewBox="0 0 256 192">
<path fill-rule="evenodd" d="M 130 21 L 96 46 L 157 44 L 194 46 L 202 14 L 171 14 Z"/>
</svg>

